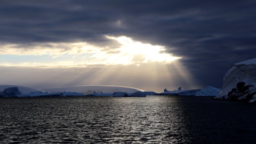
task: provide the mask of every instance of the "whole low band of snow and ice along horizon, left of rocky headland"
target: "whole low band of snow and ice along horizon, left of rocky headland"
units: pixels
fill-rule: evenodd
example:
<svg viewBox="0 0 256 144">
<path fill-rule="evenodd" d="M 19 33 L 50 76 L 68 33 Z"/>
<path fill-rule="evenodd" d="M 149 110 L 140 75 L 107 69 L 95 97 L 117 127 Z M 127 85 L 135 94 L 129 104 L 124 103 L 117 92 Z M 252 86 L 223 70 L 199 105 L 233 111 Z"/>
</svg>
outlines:
<svg viewBox="0 0 256 144">
<path fill-rule="evenodd" d="M 30 87 L 16 86 L 16 85 L 0 85 L 0 94 L 2 91 L 9 87 L 18 87 L 21 94 L 18 94 L 17 97 L 67 97 L 67 96 L 86 96 L 87 94 L 93 96 L 113 96 L 113 97 L 146 97 L 146 95 L 157 95 L 156 92 L 146 92 L 140 89 L 135 89 L 133 87 L 125 86 L 103 86 L 103 85 L 87 85 L 87 86 L 73 86 L 73 87 L 59 87 L 53 89 L 45 89 L 44 91 L 36 90 Z M 210 90 L 202 91 L 197 93 L 197 95 L 213 95 L 213 87 L 206 87 Z M 198 90 L 179 90 L 167 91 L 165 89 L 162 95 L 196 95 L 195 93 L 200 91 Z M 45 92 L 47 91 L 47 92 Z M 67 92 L 66 92 L 67 91 Z M 204 94 L 202 94 L 204 93 Z M 206 94 L 207 93 L 207 94 Z M 0 95 L 1 97 L 1 95 Z M 8 97 L 3 95 L 2 97 Z"/>
</svg>

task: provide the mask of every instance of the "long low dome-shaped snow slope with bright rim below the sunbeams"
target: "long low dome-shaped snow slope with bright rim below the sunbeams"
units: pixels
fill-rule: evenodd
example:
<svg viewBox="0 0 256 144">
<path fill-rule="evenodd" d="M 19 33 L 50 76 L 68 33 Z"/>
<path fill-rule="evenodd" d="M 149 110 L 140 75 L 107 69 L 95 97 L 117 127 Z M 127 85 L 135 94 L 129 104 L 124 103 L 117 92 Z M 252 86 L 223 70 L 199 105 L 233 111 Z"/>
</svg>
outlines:
<svg viewBox="0 0 256 144">
<path fill-rule="evenodd" d="M 137 91 L 143 91 L 140 89 L 136 89 L 133 87 L 126 87 L 126 86 L 114 86 L 114 85 L 84 85 L 84 86 L 71 86 L 71 87 L 59 87 L 53 89 L 44 89 L 43 91 L 47 92 L 79 92 L 85 94 L 92 94 L 93 92 L 96 93 L 113 93 L 113 92 L 127 92 L 127 93 L 134 93 Z"/>
</svg>

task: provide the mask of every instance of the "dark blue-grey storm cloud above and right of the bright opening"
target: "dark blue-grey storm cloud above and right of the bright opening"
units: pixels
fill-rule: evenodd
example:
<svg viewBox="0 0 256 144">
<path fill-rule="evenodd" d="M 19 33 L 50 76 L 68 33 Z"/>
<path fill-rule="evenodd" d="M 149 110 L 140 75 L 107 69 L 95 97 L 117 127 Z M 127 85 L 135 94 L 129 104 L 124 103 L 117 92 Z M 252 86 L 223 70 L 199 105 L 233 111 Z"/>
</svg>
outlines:
<svg viewBox="0 0 256 144">
<path fill-rule="evenodd" d="M 204 85 L 255 58 L 255 1 L 1 1 L 0 42 L 108 43 L 104 35 L 164 45 Z"/>
</svg>

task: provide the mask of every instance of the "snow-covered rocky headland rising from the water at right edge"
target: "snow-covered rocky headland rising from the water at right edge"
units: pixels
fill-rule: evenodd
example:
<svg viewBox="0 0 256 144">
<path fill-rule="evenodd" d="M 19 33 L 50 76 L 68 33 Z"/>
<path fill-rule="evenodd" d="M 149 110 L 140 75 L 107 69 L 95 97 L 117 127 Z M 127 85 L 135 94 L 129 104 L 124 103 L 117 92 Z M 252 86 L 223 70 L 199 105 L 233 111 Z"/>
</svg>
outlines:
<svg viewBox="0 0 256 144">
<path fill-rule="evenodd" d="M 256 92 L 256 58 L 231 65 L 223 78 L 221 93 L 215 99 L 253 102 Z"/>
</svg>

